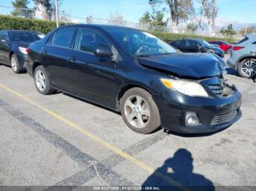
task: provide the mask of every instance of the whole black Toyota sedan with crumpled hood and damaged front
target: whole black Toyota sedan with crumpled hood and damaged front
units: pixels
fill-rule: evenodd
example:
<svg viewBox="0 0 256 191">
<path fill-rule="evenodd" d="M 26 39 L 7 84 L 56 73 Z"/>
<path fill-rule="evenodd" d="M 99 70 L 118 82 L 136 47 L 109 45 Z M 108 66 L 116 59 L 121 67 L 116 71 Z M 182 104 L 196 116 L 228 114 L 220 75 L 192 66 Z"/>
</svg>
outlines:
<svg viewBox="0 0 256 191">
<path fill-rule="evenodd" d="M 121 112 L 138 133 L 213 132 L 241 117 L 241 94 L 226 83 L 221 58 L 177 52 L 145 31 L 64 26 L 27 52 L 39 93 L 61 90 Z"/>
</svg>

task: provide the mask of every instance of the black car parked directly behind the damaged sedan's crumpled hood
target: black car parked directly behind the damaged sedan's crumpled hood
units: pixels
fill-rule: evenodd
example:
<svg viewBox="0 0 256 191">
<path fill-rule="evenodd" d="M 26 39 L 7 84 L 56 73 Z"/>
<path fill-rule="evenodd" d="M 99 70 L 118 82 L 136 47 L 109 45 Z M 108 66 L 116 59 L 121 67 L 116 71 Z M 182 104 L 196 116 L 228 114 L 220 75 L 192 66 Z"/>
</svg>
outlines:
<svg viewBox="0 0 256 191">
<path fill-rule="evenodd" d="M 211 46 L 203 39 L 179 39 L 169 44 L 181 52 L 208 52 L 224 57 L 225 52 L 219 47 Z"/>
</svg>

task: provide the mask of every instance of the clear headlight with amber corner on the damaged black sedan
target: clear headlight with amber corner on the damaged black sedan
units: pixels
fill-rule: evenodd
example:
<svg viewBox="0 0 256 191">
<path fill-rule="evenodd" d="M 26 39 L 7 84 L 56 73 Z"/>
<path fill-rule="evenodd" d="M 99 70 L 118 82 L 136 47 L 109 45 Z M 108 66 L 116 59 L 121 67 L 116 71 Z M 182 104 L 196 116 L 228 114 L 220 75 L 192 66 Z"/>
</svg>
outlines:
<svg viewBox="0 0 256 191">
<path fill-rule="evenodd" d="M 162 84 L 170 90 L 174 90 L 190 96 L 208 96 L 206 90 L 202 87 L 202 85 L 198 84 L 197 82 L 188 82 L 184 80 L 165 78 L 161 78 L 160 80 Z"/>
</svg>

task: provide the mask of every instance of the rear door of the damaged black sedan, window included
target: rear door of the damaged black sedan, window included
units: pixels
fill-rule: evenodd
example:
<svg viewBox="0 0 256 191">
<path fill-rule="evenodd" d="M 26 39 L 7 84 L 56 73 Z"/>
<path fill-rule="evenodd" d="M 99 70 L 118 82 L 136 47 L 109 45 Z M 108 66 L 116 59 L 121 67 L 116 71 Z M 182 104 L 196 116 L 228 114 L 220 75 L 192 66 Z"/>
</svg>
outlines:
<svg viewBox="0 0 256 191">
<path fill-rule="evenodd" d="M 42 63 L 44 63 L 50 81 L 61 90 L 69 90 L 67 60 L 72 56 L 72 39 L 75 27 L 60 28 L 57 30 L 45 47 L 41 50 Z"/>
</svg>

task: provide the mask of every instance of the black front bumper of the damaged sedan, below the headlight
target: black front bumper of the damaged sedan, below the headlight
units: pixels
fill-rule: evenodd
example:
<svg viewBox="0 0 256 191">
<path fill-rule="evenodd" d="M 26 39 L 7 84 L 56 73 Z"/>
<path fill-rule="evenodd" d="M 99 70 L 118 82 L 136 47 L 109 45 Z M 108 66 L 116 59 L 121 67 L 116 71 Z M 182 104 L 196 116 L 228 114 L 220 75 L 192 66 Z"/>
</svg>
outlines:
<svg viewBox="0 0 256 191">
<path fill-rule="evenodd" d="M 234 93 L 227 98 L 191 97 L 170 90 L 155 96 L 162 128 L 179 133 L 210 133 L 227 128 L 241 117 L 241 94 L 235 86 L 232 88 Z M 232 119 L 213 123 L 214 117 L 233 111 L 236 111 L 236 116 Z M 187 126 L 186 112 L 195 112 L 199 125 Z"/>
</svg>

